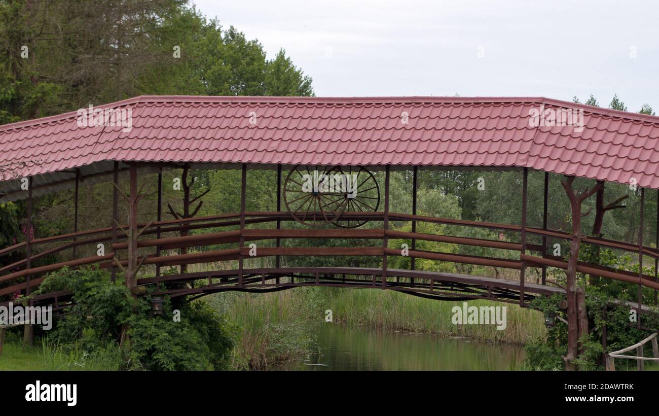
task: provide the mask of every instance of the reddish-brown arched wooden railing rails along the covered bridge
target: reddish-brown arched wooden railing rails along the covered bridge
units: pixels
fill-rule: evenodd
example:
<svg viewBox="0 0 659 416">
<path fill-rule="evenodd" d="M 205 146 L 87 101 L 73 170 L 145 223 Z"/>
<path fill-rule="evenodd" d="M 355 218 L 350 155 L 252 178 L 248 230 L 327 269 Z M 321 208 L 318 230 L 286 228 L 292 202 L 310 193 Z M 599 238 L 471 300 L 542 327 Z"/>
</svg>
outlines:
<svg viewBox="0 0 659 416">
<path fill-rule="evenodd" d="M 293 222 L 293 216 L 289 212 L 246 212 L 244 214 L 245 224 L 256 224 L 256 223 L 272 223 L 272 222 Z M 503 231 L 510 232 L 521 232 L 520 225 L 513 224 L 501 224 L 501 223 L 489 223 L 489 222 L 476 222 L 476 221 L 467 221 L 467 220 L 453 220 L 449 218 L 434 218 L 427 216 L 418 216 L 410 214 L 398 214 L 389 212 L 387 214 L 388 221 L 396 222 L 428 222 L 428 223 L 438 223 L 446 225 L 459 225 L 466 227 L 482 227 L 487 229 L 498 229 Z M 352 220 L 366 220 L 370 222 L 383 222 L 385 220 L 384 212 L 344 212 L 342 218 L 351 218 Z M 380 240 L 384 239 L 402 239 L 410 241 L 436 241 L 442 243 L 450 243 L 457 245 L 470 245 L 474 247 L 486 247 L 491 249 L 501 249 L 506 251 L 522 251 L 522 243 L 512 242 L 512 241 L 500 241 L 500 240 L 488 240 L 488 239 L 476 239 L 472 237 L 459 237 L 453 235 L 436 235 L 436 234 L 427 234 L 427 233 L 418 233 L 418 232 L 409 232 L 409 231 L 395 231 L 391 229 L 385 229 L 384 227 L 369 227 L 370 223 L 366 223 L 364 227 L 357 229 L 309 229 L 308 227 L 298 228 L 244 228 L 241 232 L 240 229 L 229 229 L 227 231 L 217 231 L 217 229 L 223 229 L 227 227 L 237 227 L 241 224 L 241 214 L 222 214 L 217 216 L 206 216 L 198 218 L 186 218 L 181 220 L 171 220 L 171 221 L 161 221 L 161 222 L 152 222 L 150 224 L 140 224 L 140 227 L 147 227 L 146 230 L 142 233 L 144 236 L 142 239 L 138 240 L 138 247 L 157 248 L 157 253 L 160 253 L 162 250 L 170 249 L 181 249 L 185 247 L 209 247 L 213 245 L 227 244 L 227 243 L 239 243 L 241 238 L 243 241 L 264 241 L 264 240 L 281 240 L 281 239 L 369 239 L 369 240 Z M 297 223 L 296 223 L 297 224 Z M 210 230 L 206 233 L 198 233 L 195 235 L 187 235 L 185 237 L 161 237 L 161 238 L 152 238 L 150 236 L 163 235 L 167 233 L 177 233 L 183 230 Z M 540 235 L 542 237 L 553 237 L 556 239 L 570 239 L 571 235 L 563 231 L 557 230 L 544 230 L 534 227 L 526 227 L 526 232 L 530 234 Z M 18 260 L 13 264 L 8 264 L 0 268 L 0 284 L 8 284 L 5 287 L 0 287 L 0 296 L 9 295 L 16 291 L 24 291 L 28 284 L 30 287 L 36 287 L 43 282 L 43 276 L 49 272 L 55 270 L 60 270 L 61 268 L 68 267 L 79 267 L 90 264 L 96 264 L 101 268 L 109 268 L 113 266 L 111 260 L 115 258 L 121 258 L 122 251 L 127 249 L 128 243 L 126 240 L 126 235 L 119 233 L 117 235 L 117 243 L 111 244 L 113 237 L 113 229 L 111 227 L 103 229 L 95 229 L 89 231 L 80 231 L 78 233 L 69 233 L 66 235 L 58 235 L 53 237 L 45 237 L 42 239 L 35 239 L 31 241 L 32 245 L 32 256 L 31 264 L 34 264 L 35 260 L 40 260 L 46 256 L 61 253 L 67 249 L 72 249 L 73 247 L 84 247 L 91 246 L 94 247 L 96 251 L 96 244 L 98 243 L 109 243 L 107 253 L 103 256 L 89 256 L 85 258 L 74 258 L 72 260 L 57 262 L 54 264 L 45 264 L 42 266 L 36 266 L 32 268 L 25 268 L 27 262 L 26 259 Z M 55 247 L 48 247 L 40 253 L 35 253 L 37 247 L 47 247 L 60 243 Z M 629 251 L 638 253 L 639 245 L 632 243 L 625 243 L 621 241 L 613 241 L 608 239 L 602 239 L 598 237 L 583 237 L 583 243 L 598 245 L 600 247 L 607 247 L 610 249 L 618 249 L 623 251 Z M 25 243 L 18 243 L 11 247 L 0 250 L 0 256 L 6 256 L 7 254 L 16 253 L 25 249 Z M 432 251 L 421 251 L 421 250 L 409 250 L 409 255 L 411 258 L 426 258 L 430 260 L 438 260 L 443 262 L 457 262 L 463 264 L 474 264 L 479 266 L 493 266 L 496 268 L 509 268 L 513 270 L 521 270 L 523 267 L 554 267 L 559 269 L 567 269 L 567 262 L 563 261 L 562 258 L 557 258 L 555 256 L 550 256 L 546 253 L 546 250 L 542 245 L 531 245 L 527 243 L 525 245 L 527 253 L 536 251 L 540 253 L 539 255 L 529 255 L 529 254 L 520 254 L 519 259 L 517 258 L 497 258 L 489 256 L 473 256 L 467 254 L 455 254 L 455 253 L 440 253 Z M 653 258 L 659 258 L 659 250 L 654 247 L 642 247 L 643 254 L 651 256 Z M 252 253 L 253 254 L 253 253 Z M 253 257 L 266 257 L 266 256 L 401 256 L 403 255 L 401 249 L 393 249 L 390 247 L 384 247 L 382 242 L 379 245 L 373 245 L 369 247 L 258 247 L 255 256 L 250 255 L 249 247 L 236 247 L 232 249 L 221 249 L 221 250 L 210 250 L 210 251 L 200 251 L 198 253 L 190 254 L 170 254 L 170 255 L 156 255 L 156 254 L 147 254 L 143 264 L 157 264 L 159 266 L 179 266 L 183 264 L 197 264 L 197 263 L 207 263 L 207 262 L 221 262 L 227 260 L 237 260 L 241 258 L 253 258 Z M 123 265 L 126 264 L 126 260 L 120 260 Z M 298 272 L 304 268 L 296 268 Z M 283 276 L 287 274 L 281 268 L 277 270 L 268 270 L 259 269 L 259 274 L 268 276 Z M 304 270 L 310 270 L 308 268 Z M 352 269 L 351 269 L 352 270 Z M 245 268 L 241 269 L 241 273 L 249 274 L 250 269 Z M 377 271 L 377 270 L 376 270 Z M 583 272 L 586 274 L 592 274 L 595 276 L 601 276 L 602 278 L 618 280 L 621 282 L 634 283 L 644 287 L 649 287 L 651 289 L 659 289 L 659 282 L 657 282 L 656 276 L 643 275 L 639 279 L 639 274 L 633 272 L 627 272 L 625 270 L 616 270 L 612 268 L 605 268 L 596 264 L 587 264 L 579 262 L 577 265 L 577 271 Z M 345 270 L 344 270 L 345 272 Z M 357 273 L 356 270 L 352 272 Z M 388 272 L 383 270 L 384 273 L 378 274 L 379 276 L 384 276 L 380 286 L 389 285 Z M 422 272 L 411 270 L 415 274 L 411 274 L 407 277 L 413 282 L 415 278 L 422 278 Z M 225 274 L 228 276 L 230 273 Z M 253 275 L 254 273 L 252 273 Z M 370 270 L 368 275 L 373 274 L 373 271 Z M 397 276 L 396 276 L 397 274 Z M 400 278 L 403 276 L 403 271 L 395 272 L 391 274 L 391 278 L 396 278 L 396 284 L 401 285 Z M 204 276 L 209 276 L 209 273 L 204 274 Z M 20 282 L 22 278 L 30 276 L 30 282 Z M 38 277 L 37 277 L 38 276 Z M 215 274 L 214 276 L 219 276 Z M 430 275 L 428 275 L 430 276 Z M 426 276 L 426 277 L 428 277 Z M 457 275 L 456 275 L 457 276 Z M 190 278 L 194 278 L 192 275 Z M 313 278 L 314 276 L 311 276 Z M 139 282 L 140 284 L 150 284 L 160 281 L 166 281 L 167 279 L 171 280 L 172 278 L 165 276 L 156 276 L 155 278 L 142 278 Z M 249 284 L 252 280 L 243 282 L 243 285 Z M 430 276 L 430 285 L 434 282 L 434 277 Z M 456 278 L 457 279 L 457 278 Z M 265 283 L 266 278 L 264 276 L 259 276 L 258 280 L 262 283 Z M 439 280 L 437 278 L 436 280 Z M 277 279 L 278 281 L 278 279 Z M 232 281 L 233 282 L 233 281 Z M 235 282 L 234 282 L 235 283 Z M 427 282 L 426 282 L 427 283 Z M 420 285 L 426 283 L 418 283 Z M 329 283 L 328 283 L 329 284 Z M 391 283 L 393 285 L 393 282 Z M 397 286 L 398 288 L 402 286 Z M 432 286 L 431 286 L 432 288 Z M 240 287 L 234 287 L 234 289 L 241 289 Z M 243 288 L 244 289 L 244 288 Z M 524 291 L 524 288 L 521 289 Z"/>
</svg>

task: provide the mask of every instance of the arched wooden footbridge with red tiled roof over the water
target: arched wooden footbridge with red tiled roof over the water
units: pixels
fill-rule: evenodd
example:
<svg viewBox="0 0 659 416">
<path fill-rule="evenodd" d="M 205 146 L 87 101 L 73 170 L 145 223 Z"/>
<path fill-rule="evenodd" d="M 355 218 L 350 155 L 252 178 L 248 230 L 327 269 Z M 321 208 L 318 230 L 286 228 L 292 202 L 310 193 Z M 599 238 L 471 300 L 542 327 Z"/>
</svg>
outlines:
<svg viewBox="0 0 659 416">
<path fill-rule="evenodd" d="M 585 112 L 585 125 L 573 129 L 534 124 L 529 115 L 538 106 L 552 111 L 579 107 Z M 641 210 L 637 243 L 582 235 L 581 205 L 596 195 L 596 223 L 601 225 L 604 213 L 619 202 L 604 205 L 604 184 L 610 181 L 639 187 L 641 206 L 645 206 L 646 189 L 659 189 L 655 150 L 659 148 L 659 117 L 546 98 L 138 97 L 102 109 L 125 107 L 133 110 L 129 131 L 122 126 L 80 127 L 76 113 L 0 127 L 0 145 L 6 149 L 0 154 L 0 202 L 26 200 L 27 230 L 25 241 L 0 249 L 0 259 L 24 253 L 22 259 L 0 268 L 0 301 L 30 295 L 49 272 L 65 266 L 107 268 L 113 280 L 121 271 L 134 295 L 146 293 L 145 287 L 152 285 L 154 297 L 188 299 L 220 291 L 261 293 L 329 286 L 388 289 L 440 300 L 493 299 L 528 307 L 538 295 L 565 293 L 568 363 L 576 357 L 578 333 L 588 330 L 577 322 L 578 272 L 631 283 L 638 295 L 637 303 L 629 305 L 639 312 L 648 310 L 643 305 L 644 287 L 654 290 L 657 303 L 659 230 L 654 247 L 645 245 Z M 607 144 L 604 153 L 603 143 Z M 418 215 L 418 170 L 465 168 L 521 173 L 519 224 Z M 173 220 L 163 220 L 163 169 L 182 171 L 183 210 L 169 206 Z M 241 193 L 239 212 L 196 216 L 200 204 L 192 205 L 204 194 L 190 196 L 190 169 L 241 169 L 241 183 L 234 184 Z M 276 169 L 275 211 L 246 210 L 249 169 Z M 394 169 L 412 173 L 411 212 L 389 209 Z M 527 223 L 530 169 L 544 171 L 542 227 Z M 380 173 L 379 180 L 374 172 Z M 138 189 L 138 175 L 147 173 L 158 175 L 158 183 L 149 185 L 157 188 L 157 212 L 149 214 L 152 222 L 140 223 L 138 205 L 145 194 Z M 548 228 L 550 173 L 563 177 L 571 206 L 570 233 Z M 120 175 L 128 178 L 126 193 Z M 575 177 L 593 179 L 596 185 L 577 192 Z M 324 189 L 326 179 L 337 188 Z M 99 219 L 109 226 L 78 230 L 80 183 L 109 180 L 114 185 L 113 218 Z M 308 181 L 313 182 L 310 189 Z M 75 189 L 73 232 L 34 238 L 33 198 L 63 189 Z M 125 224 L 119 223 L 121 198 L 128 210 Z M 659 202 L 657 212 L 659 216 Z M 411 223 L 411 231 L 392 229 L 392 222 Z M 516 237 L 508 241 L 420 233 L 419 223 L 481 227 Z M 313 247 L 305 242 L 313 239 L 341 241 L 341 247 Z M 539 239 L 542 244 L 529 243 Z M 548 239 L 569 241 L 569 260 L 550 255 Z M 355 240 L 360 242 L 358 247 L 351 247 L 348 242 Z M 405 246 L 394 247 L 393 241 Z M 417 241 L 512 251 L 519 256 L 424 251 L 417 249 Z M 94 251 L 98 244 L 107 247 L 101 255 L 78 256 L 83 247 Z M 582 244 L 635 253 L 639 272 L 579 262 Z M 283 256 L 357 258 L 361 263 L 289 267 L 282 264 Z M 394 256 L 409 257 L 409 268 L 389 267 L 389 258 Z M 643 274 L 645 257 L 654 259 L 654 276 Z M 53 258 L 59 260 L 52 262 Z M 247 267 L 246 260 L 251 258 L 272 258 L 273 267 Z M 367 262 L 368 258 L 372 261 Z M 418 270 L 415 260 L 420 258 L 511 269 L 519 278 Z M 208 271 L 188 272 L 190 264 L 210 266 L 206 266 Z M 146 272 L 147 265 L 154 265 L 154 272 Z M 163 267 L 176 270 L 163 273 Z M 527 281 L 529 268 L 540 270 L 536 282 Z M 567 283 L 550 282 L 548 268 L 565 270 Z M 54 305 L 59 311 L 70 301 L 71 293 L 66 292 L 30 297 L 32 304 Z M 638 326 L 643 328 L 641 320 Z"/>
</svg>

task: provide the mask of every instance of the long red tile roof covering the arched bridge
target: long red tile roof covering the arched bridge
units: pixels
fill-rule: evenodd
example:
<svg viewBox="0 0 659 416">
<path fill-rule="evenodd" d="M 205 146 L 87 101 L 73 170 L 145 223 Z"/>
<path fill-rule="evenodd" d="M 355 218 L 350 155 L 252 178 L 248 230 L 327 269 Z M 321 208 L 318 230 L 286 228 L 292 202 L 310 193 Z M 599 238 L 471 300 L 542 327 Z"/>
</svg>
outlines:
<svg viewBox="0 0 659 416">
<path fill-rule="evenodd" d="M 583 129 L 533 127 L 529 111 L 540 105 L 583 110 Z M 659 188 L 659 117 L 547 98 L 140 96 L 100 108 L 132 109 L 132 130 L 78 127 L 75 112 L 0 126 L 0 169 L 25 177 L 107 160 L 517 166 Z"/>
</svg>

